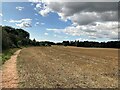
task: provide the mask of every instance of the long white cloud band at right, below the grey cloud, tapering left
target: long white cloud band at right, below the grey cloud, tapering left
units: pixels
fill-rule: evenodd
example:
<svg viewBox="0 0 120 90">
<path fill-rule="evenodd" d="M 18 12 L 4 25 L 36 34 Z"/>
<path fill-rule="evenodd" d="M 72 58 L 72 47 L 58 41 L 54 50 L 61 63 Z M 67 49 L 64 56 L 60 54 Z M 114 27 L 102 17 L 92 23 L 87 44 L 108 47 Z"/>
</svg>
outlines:
<svg viewBox="0 0 120 90">
<path fill-rule="evenodd" d="M 118 22 L 96 22 L 95 26 L 89 25 L 77 25 L 68 26 L 64 29 L 46 29 L 55 33 L 65 33 L 72 36 L 84 36 L 88 39 L 117 39 L 118 38 Z"/>
</svg>

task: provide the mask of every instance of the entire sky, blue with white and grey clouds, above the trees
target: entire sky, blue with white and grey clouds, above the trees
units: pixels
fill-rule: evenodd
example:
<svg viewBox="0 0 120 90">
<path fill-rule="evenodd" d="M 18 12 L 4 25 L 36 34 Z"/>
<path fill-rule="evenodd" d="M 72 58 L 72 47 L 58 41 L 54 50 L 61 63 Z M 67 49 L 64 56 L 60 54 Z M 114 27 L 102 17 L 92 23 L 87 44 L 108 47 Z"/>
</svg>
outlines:
<svg viewBox="0 0 120 90">
<path fill-rule="evenodd" d="M 115 2 L 3 2 L 3 26 L 22 28 L 37 41 L 118 39 Z"/>
</svg>

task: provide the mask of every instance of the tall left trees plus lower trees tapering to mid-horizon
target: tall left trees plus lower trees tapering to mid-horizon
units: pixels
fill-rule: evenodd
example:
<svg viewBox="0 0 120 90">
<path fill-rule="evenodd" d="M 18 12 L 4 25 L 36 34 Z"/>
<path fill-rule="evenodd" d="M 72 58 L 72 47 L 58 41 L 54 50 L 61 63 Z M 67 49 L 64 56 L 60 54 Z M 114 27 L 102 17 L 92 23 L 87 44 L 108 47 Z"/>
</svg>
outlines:
<svg viewBox="0 0 120 90">
<path fill-rule="evenodd" d="M 30 39 L 30 34 L 23 29 L 15 29 L 10 26 L 0 26 L 2 31 L 2 50 L 20 48 L 22 46 L 51 46 L 55 43 L 45 41 L 38 42 Z"/>
</svg>

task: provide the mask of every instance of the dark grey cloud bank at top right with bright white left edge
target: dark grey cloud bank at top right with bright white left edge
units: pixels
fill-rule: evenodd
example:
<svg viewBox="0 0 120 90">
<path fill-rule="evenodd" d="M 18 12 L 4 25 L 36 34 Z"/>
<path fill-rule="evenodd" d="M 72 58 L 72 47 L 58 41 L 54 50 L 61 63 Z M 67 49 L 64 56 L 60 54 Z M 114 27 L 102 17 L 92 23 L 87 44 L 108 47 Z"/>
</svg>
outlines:
<svg viewBox="0 0 120 90">
<path fill-rule="evenodd" d="M 56 12 L 62 20 L 70 19 L 74 22 L 88 24 L 90 21 L 102 19 L 117 20 L 117 3 L 113 2 L 44 2 L 36 5 L 42 16 Z M 39 6 L 39 7 L 38 7 Z M 103 17 L 102 17 L 103 16 Z M 77 21 L 76 21 L 76 19 Z M 83 18 L 83 20 L 81 20 Z M 86 18 L 90 21 L 84 21 Z M 75 19 L 75 20 L 74 20 Z"/>
</svg>

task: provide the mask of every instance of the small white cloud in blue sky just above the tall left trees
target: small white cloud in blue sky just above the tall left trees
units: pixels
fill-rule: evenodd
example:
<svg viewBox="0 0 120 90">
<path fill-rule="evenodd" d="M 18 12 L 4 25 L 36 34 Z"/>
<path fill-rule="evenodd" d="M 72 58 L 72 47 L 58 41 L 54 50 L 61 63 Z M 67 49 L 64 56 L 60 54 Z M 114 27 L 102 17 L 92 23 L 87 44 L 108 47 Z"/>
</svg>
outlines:
<svg viewBox="0 0 120 90">
<path fill-rule="evenodd" d="M 26 28 L 26 27 L 31 27 L 32 25 L 32 19 L 26 18 L 26 19 L 21 19 L 21 20 L 10 20 L 9 22 L 15 23 L 16 26 L 20 28 Z"/>
</svg>

